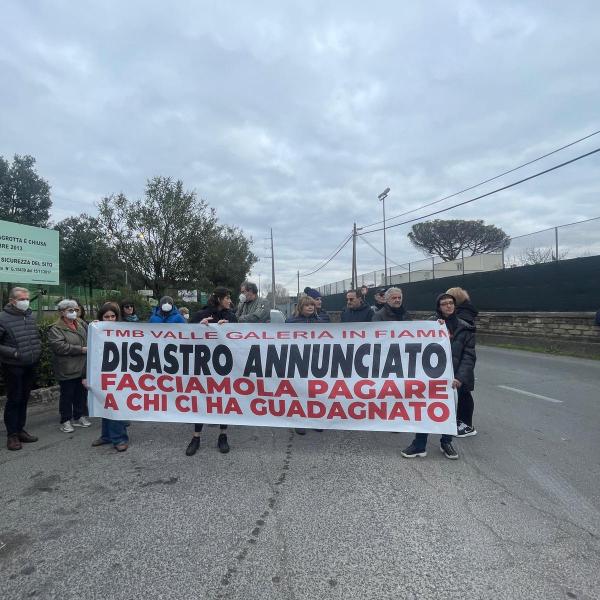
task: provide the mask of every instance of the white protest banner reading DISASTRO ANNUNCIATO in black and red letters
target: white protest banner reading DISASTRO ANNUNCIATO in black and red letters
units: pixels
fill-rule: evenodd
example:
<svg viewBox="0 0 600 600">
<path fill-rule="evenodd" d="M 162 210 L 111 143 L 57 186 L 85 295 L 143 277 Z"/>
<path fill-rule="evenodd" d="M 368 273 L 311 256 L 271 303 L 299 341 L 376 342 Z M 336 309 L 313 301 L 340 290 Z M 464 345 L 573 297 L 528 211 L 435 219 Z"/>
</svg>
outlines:
<svg viewBox="0 0 600 600">
<path fill-rule="evenodd" d="M 436 321 L 92 323 L 90 415 L 456 434 L 448 331 Z"/>
</svg>

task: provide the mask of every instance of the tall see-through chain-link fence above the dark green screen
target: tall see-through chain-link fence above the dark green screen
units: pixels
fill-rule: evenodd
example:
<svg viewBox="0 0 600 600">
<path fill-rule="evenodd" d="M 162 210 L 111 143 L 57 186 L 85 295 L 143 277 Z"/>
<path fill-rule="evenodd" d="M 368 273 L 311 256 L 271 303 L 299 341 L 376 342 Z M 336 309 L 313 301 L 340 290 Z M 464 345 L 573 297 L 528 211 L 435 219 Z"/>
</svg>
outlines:
<svg viewBox="0 0 600 600">
<path fill-rule="evenodd" d="M 600 255 L 600 217 L 510 238 L 510 244 L 503 252 L 473 256 L 461 254 L 451 261 L 430 256 L 388 267 L 387 278 L 383 269 L 363 273 L 358 275 L 357 286 L 401 285 L 596 255 Z M 349 278 L 327 283 L 317 289 L 323 296 L 329 296 L 351 288 L 352 279 Z"/>
</svg>

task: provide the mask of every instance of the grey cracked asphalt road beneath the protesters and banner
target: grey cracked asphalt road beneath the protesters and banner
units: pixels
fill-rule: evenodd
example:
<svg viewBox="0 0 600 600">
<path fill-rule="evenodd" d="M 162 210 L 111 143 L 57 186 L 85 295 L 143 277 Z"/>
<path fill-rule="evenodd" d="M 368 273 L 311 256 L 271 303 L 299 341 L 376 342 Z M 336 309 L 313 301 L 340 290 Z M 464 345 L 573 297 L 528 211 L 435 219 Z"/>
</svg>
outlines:
<svg viewBox="0 0 600 600">
<path fill-rule="evenodd" d="M 186 457 L 153 423 L 117 454 L 37 408 L 40 441 L 0 448 L 2 597 L 599 598 L 600 362 L 480 348 L 477 378 L 458 461 L 245 427 Z"/>
</svg>

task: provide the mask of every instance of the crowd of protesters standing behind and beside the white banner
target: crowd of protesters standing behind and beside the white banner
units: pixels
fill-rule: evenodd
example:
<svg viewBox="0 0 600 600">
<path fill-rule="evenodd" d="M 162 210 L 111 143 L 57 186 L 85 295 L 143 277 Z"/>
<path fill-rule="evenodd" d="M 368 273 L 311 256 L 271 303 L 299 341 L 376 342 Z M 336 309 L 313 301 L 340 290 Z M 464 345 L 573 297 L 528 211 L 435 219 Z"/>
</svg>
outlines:
<svg viewBox="0 0 600 600">
<path fill-rule="evenodd" d="M 410 321 L 404 307 L 402 290 L 398 287 L 378 288 L 374 293 L 375 303 L 369 306 L 367 288 L 349 290 L 346 293 L 346 308 L 341 314 L 342 323 L 369 321 Z M 196 323 L 202 325 L 224 323 L 266 323 L 271 310 L 267 300 L 261 298 L 254 283 L 241 285 L 237 308 L 233 308 L 231 291 L 217 287 L 204 308 L 190 315 L 187 308 L 177 308 L 171 296 L 163 296 L 152 310 L 151 323 Z M 60 430 L 72 433 L 76 427 L 91 426 L 87 409 L 87 334 L 88 322 L 84 307 L 76 300 L 65 299 L 58 303 L 58 319 L 48 331 L 48 343 L 53 356 L 53 368 L 60 386 L 59 415 Z M 451 288 L 440 294 L 435 304 L 432 319 L 444 323 L 450 334 L 454 380 L 457 390 L 457 435 L 469 437 L 477 434 L 473 426 L 475 368 L 475 319 L 477 310 L 468 293 L 462 288 Z M 137 322 L 135 303 L 123 300 L 120 304 L 106 302 L 97 315 L 97 321 Z M 328 323 L 330 316 L 322 308 L 318 290 L 307 287 L 298 299 L 294 313 L 286 323 Z M 0 362 L 4 377 L 7 400 L 4 423 L 7 432 L 7 448 L 20 450 L 22 444 L 36 442 L 37 437 L 25 430 L 27 403 L 35 380 L 37 364 L 41 356 L 41 340 L 35 317 L 29 307 L 29 291 L 15 287 L 9 293 L 8 304 L 0 313 Z M 112 444 L 117 452 L 129 446 L 127 429 L 129 422 L 102 419 L 101 434 L 92 446 Z M 194 432 L 186 448 L 186 455 L 194 455 L 200 446 L 202 423 L 194 425 Z M 217 447 L 220 452 L 230 450 L 227 425 L 220 425 Z M 294 430 L 299 435 L 305 429 Z M 317 429 L 315 431 L 323 431 Z M 413 442 L 401 451 L 405 458 L 425 457 L 428 434 L 416 434 Z M 440 449 L 450 459 L 457 459 L 453 437 L 442 435 Z"/>
</svg>

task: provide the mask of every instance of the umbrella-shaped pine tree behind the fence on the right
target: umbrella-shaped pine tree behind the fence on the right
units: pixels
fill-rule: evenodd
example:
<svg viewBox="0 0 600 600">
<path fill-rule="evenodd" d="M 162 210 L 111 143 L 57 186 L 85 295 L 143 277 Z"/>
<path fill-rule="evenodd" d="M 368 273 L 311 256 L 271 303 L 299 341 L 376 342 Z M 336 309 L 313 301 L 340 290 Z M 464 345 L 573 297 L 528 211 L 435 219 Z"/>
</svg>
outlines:
<svg viewBox="0 0 600 600">
<path fill-rule="evenodd" d="M 464 251 L 474 254 L 499 252 L 508 247 L 510 239 L 495 225 L 483 221 L 440 220 L 416 223 L 408 234 L 412 244 L 426 254 L 444 260 L 454 260 Z"/>
</svg>

